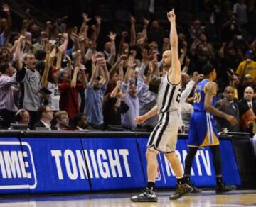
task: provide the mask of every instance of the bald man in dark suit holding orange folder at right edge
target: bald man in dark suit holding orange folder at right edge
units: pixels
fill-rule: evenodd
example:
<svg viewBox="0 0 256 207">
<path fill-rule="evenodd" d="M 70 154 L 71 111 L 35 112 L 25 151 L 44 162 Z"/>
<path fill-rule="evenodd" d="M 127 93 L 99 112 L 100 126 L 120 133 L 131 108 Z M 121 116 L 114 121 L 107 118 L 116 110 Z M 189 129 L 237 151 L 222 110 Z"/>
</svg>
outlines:
<svg viewBox="0 0 256 207">
<path fill-rule="evenodd" d="M 245 88 L 244 97 L 238 101 L 242 130 L 252 133 L 256 119 L 256 101 L 253 100 L 254 90 L 251 86 Z"/>
</svg>

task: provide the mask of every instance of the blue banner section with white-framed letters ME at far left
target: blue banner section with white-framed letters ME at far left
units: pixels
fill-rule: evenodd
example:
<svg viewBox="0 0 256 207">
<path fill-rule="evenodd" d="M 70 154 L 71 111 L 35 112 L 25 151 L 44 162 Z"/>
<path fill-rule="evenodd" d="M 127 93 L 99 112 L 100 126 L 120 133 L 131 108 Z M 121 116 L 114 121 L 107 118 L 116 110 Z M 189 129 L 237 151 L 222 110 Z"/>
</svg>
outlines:
<svg viewBox="0 0 256 207">
<path fill-rule="evenodd" d="M 34 187 L 31 148 L 26 143 L 22 148 L 18 138 L 0 138 L 0 194 L 28 193 Z"/>
</svg>

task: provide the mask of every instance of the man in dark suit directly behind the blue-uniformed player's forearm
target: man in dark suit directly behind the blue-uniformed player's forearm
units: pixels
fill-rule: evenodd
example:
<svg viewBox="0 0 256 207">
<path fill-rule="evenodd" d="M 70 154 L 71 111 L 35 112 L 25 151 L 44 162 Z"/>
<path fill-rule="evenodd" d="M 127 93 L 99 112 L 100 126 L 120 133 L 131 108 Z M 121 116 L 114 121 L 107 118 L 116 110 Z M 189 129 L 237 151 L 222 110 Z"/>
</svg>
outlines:
<svg viewBox="0 0 256 207">
<path fill-rule="evenodd" d="M 218 100 L 215 104 L 215 107 L 218 108 L 218 110 L 227 113 L 228 115 L 235 116 L 235 118 L 238 120 L 238 123 L 235 125 L 231 125 L 224 118 L 216 117 L 218 130 L 222 131 L 223 128 L 227 128 L 228 131 L 238 132 L 240 131 L 239 109 L 238 104 L 234 99 L 235 89 L 232 86 L 227 86 L 225 87 L 223 95 L 223 99 Z"/>
</svg>

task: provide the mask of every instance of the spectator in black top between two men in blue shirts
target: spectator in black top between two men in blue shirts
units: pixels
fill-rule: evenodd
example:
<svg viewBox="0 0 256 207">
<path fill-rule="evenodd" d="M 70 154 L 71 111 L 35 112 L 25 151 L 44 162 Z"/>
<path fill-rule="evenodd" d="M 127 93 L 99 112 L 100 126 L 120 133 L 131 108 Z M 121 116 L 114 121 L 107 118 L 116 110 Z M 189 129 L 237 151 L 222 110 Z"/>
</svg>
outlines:
<svg viewBox="0 0 256 207">
<path fill-rule="evenodd" d="M 118 81 L 112 93 L 105 96 L 103 102 L 103 130 L 108 129 L 108 125 L 121 125 L 121 114 L 129 109 L 127 104 L 120 99 L 122 97 L 121 84 L 122 82 Z"/>
</svg>

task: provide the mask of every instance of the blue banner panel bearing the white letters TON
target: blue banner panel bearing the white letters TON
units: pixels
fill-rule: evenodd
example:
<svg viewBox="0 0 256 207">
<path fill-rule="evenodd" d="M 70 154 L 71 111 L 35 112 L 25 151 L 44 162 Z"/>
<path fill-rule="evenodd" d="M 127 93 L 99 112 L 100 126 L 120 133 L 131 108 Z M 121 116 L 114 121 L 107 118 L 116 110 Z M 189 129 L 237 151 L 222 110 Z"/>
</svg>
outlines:
<svg viewBox="0 0 256 207">
<path fill-rule="evenodd" d="M 36 177 L 36 183 L 33 184 L 32 193 L 90 190 L 80 138 L 21 140 L 31 148 L 33 157 L 33 177 Z"/>
</svg>

